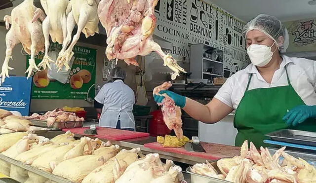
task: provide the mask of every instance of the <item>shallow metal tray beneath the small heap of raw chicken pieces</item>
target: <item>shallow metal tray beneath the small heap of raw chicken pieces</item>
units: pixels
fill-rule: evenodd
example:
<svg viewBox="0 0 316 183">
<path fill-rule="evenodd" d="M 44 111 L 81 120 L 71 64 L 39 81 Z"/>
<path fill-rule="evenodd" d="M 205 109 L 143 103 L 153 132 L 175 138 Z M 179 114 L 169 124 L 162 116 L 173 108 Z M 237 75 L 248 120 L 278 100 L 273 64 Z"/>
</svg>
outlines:
<svg viewBox="0 0 316 183">
<path fill-rule="evenodd" d="M 64 121 L 64 122 L 54 122 L 54 124 L 50 127 L 47 127 L 47 121 L 38 120 L 38 119 L 30 119 L 30 121 L 35 126 L 40 126 L 44 128 L 48 128 L 49 130 L 62 130 L 64 128 L 78 128 L 82 127 L 84 121 Z"/>
</svg>

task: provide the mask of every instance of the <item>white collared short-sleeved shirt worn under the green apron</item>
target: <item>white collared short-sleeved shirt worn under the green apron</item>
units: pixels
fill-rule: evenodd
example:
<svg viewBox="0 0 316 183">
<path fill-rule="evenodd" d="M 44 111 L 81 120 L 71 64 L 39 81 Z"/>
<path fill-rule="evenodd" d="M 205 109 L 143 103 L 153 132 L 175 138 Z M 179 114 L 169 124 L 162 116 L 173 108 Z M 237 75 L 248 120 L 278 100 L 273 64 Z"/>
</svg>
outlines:
<svg viewBox="0 0 316 183">
<path fill-rule="evenodd" d="M 280 64 L 280 68 L 274 73 L 271 84 L 264 80 L 254 65 L 250 64 L 228 78 L 214 98 L 236 110 L 246 90 L 250 73 L 253 73 L 253 75 L 248 90 L 287 86 L 284 68 L 287 65 L 287 73 L 296 93 L 306 105 L 316 105 L 316 61 L 304 58 L 291 58 L 285 55 L 282 55 L 282 58 L 283 61 Z"/>
</svg>

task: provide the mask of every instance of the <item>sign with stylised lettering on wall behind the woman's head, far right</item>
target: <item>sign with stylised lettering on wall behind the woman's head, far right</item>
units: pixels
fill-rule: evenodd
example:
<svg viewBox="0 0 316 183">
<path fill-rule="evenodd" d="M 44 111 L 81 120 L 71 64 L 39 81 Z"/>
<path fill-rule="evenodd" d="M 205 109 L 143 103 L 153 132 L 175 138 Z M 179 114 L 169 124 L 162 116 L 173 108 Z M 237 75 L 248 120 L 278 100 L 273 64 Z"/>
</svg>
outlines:
<svg viewBox="0 0 316 183">
<path fill-rule="evenodd" d="M 316 49 L 316 20 L 285 22 L 289 33 L 289 47 L 286 52 L 315 51 Z"/>
</svg>

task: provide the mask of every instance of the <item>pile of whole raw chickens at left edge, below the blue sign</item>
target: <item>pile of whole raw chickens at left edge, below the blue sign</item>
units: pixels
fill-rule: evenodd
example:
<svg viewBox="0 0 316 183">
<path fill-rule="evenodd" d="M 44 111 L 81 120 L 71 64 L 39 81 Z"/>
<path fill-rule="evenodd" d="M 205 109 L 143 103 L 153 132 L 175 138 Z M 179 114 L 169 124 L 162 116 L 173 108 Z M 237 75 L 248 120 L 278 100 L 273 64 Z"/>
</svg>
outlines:
<svg viewBox="0 0 316 183">
<path fill-rule="evenodd" d="M 32 126 L 32 122 L 22 116 L 13 115 L 7 110 L 0 109 L 0 134 L 12 132 L 35 132 L 39 130 L 47 130 Z"/>
</svg>

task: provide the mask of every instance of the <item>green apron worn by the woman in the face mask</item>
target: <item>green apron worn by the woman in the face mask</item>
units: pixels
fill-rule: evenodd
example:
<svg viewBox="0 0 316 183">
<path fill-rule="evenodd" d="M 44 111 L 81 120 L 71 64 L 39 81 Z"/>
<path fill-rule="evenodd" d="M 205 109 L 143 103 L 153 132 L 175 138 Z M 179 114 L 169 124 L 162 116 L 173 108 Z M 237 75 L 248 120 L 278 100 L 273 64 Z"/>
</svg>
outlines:
<svg viewBox="0 0 316 183">
<path fill-rule="evenodd" d="M 238 130 L 235 146 L 248 140 L 256 147 L 267 146 L 263 143 L 264 135 L 280 129 L 296 129 L 316 132 L 316 122 L 309 119 L 295 127 L 288 126 L 282 120 L 287 110 L 305 105 L 293 89 L 285 67 L 288 86 L 257 88 L 248 90 L 252 78 L 249 76 L 246 91 L 236 109 L 234 126 Z"/>
</svg>

